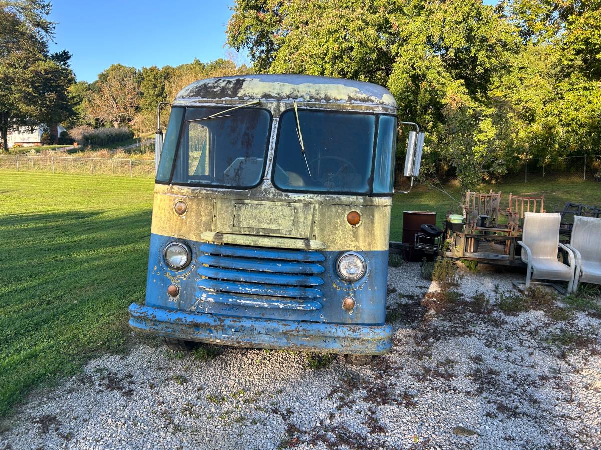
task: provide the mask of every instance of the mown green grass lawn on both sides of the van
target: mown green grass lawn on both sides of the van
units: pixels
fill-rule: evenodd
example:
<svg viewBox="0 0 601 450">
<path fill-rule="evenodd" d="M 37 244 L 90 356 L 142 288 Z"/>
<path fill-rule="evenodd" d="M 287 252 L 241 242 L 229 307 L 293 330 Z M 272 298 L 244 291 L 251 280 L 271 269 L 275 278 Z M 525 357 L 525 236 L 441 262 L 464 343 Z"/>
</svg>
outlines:
<svg viewBox="0 0 601 450">
<path fill-rule="evenodd" d="M 591 181 L 489 188 L 544 193 L 548 211 L 601 205 Z M 127 307 L 144 299 L 152 195 L 148 178 L 0 172 L 0 415 L 32 388 L 126 347 Z M 436 211 L 441 223 L 451 206 L 425 187 L 398 194 L 391 239 L 401 240 L 403 211 Z"/>
</svg>

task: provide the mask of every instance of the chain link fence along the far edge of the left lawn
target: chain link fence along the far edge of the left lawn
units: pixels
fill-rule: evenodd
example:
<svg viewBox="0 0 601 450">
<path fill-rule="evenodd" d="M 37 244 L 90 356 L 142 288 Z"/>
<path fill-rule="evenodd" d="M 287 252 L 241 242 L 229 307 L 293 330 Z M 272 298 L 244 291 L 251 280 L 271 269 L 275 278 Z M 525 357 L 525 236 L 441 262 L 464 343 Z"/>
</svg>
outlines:
<svg viewBox="0 0 601 450">
<path fill-rule="evenodd" d="M 0 170 L 70 175 L 114 175 L 129 176 L 130 178 L 153 177 L 154 160 L 0 155 Z"/>
</svg>

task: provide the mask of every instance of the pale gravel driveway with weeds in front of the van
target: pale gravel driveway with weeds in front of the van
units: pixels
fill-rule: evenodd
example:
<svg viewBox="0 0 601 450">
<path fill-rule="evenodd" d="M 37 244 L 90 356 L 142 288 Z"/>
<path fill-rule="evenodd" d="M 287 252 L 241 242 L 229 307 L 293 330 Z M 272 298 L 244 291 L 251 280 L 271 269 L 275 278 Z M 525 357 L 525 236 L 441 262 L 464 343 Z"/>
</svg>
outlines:
<svg viewBox="0 0 601 450">
<path fill-rule="evenodd" d="M 0 448 L 599 448 L 599 317 L 503 313 L 523 275 L 462 274 L 443 307 L 418 265 L 390 268 L 394 347 L 367 367 L 150 341 L 31 395 Z"/>
</svg>

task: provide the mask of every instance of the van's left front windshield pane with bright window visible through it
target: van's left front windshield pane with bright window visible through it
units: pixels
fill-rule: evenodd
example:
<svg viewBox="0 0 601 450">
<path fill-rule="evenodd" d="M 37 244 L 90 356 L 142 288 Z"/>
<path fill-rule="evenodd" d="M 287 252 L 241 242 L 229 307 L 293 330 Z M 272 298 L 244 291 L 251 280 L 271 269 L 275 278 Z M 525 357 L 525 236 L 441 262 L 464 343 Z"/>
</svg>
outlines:
<svg viewBox="0 0 601 450">
<path fill-rule="evenodd" d="M 271 115 L 257 107 L 226 110 L 186 108 L 175 151 L 173 184 L 240 189 L 260 184 Z M 163 152 L 167 150 L 165 146 Z"/>
</svg>

